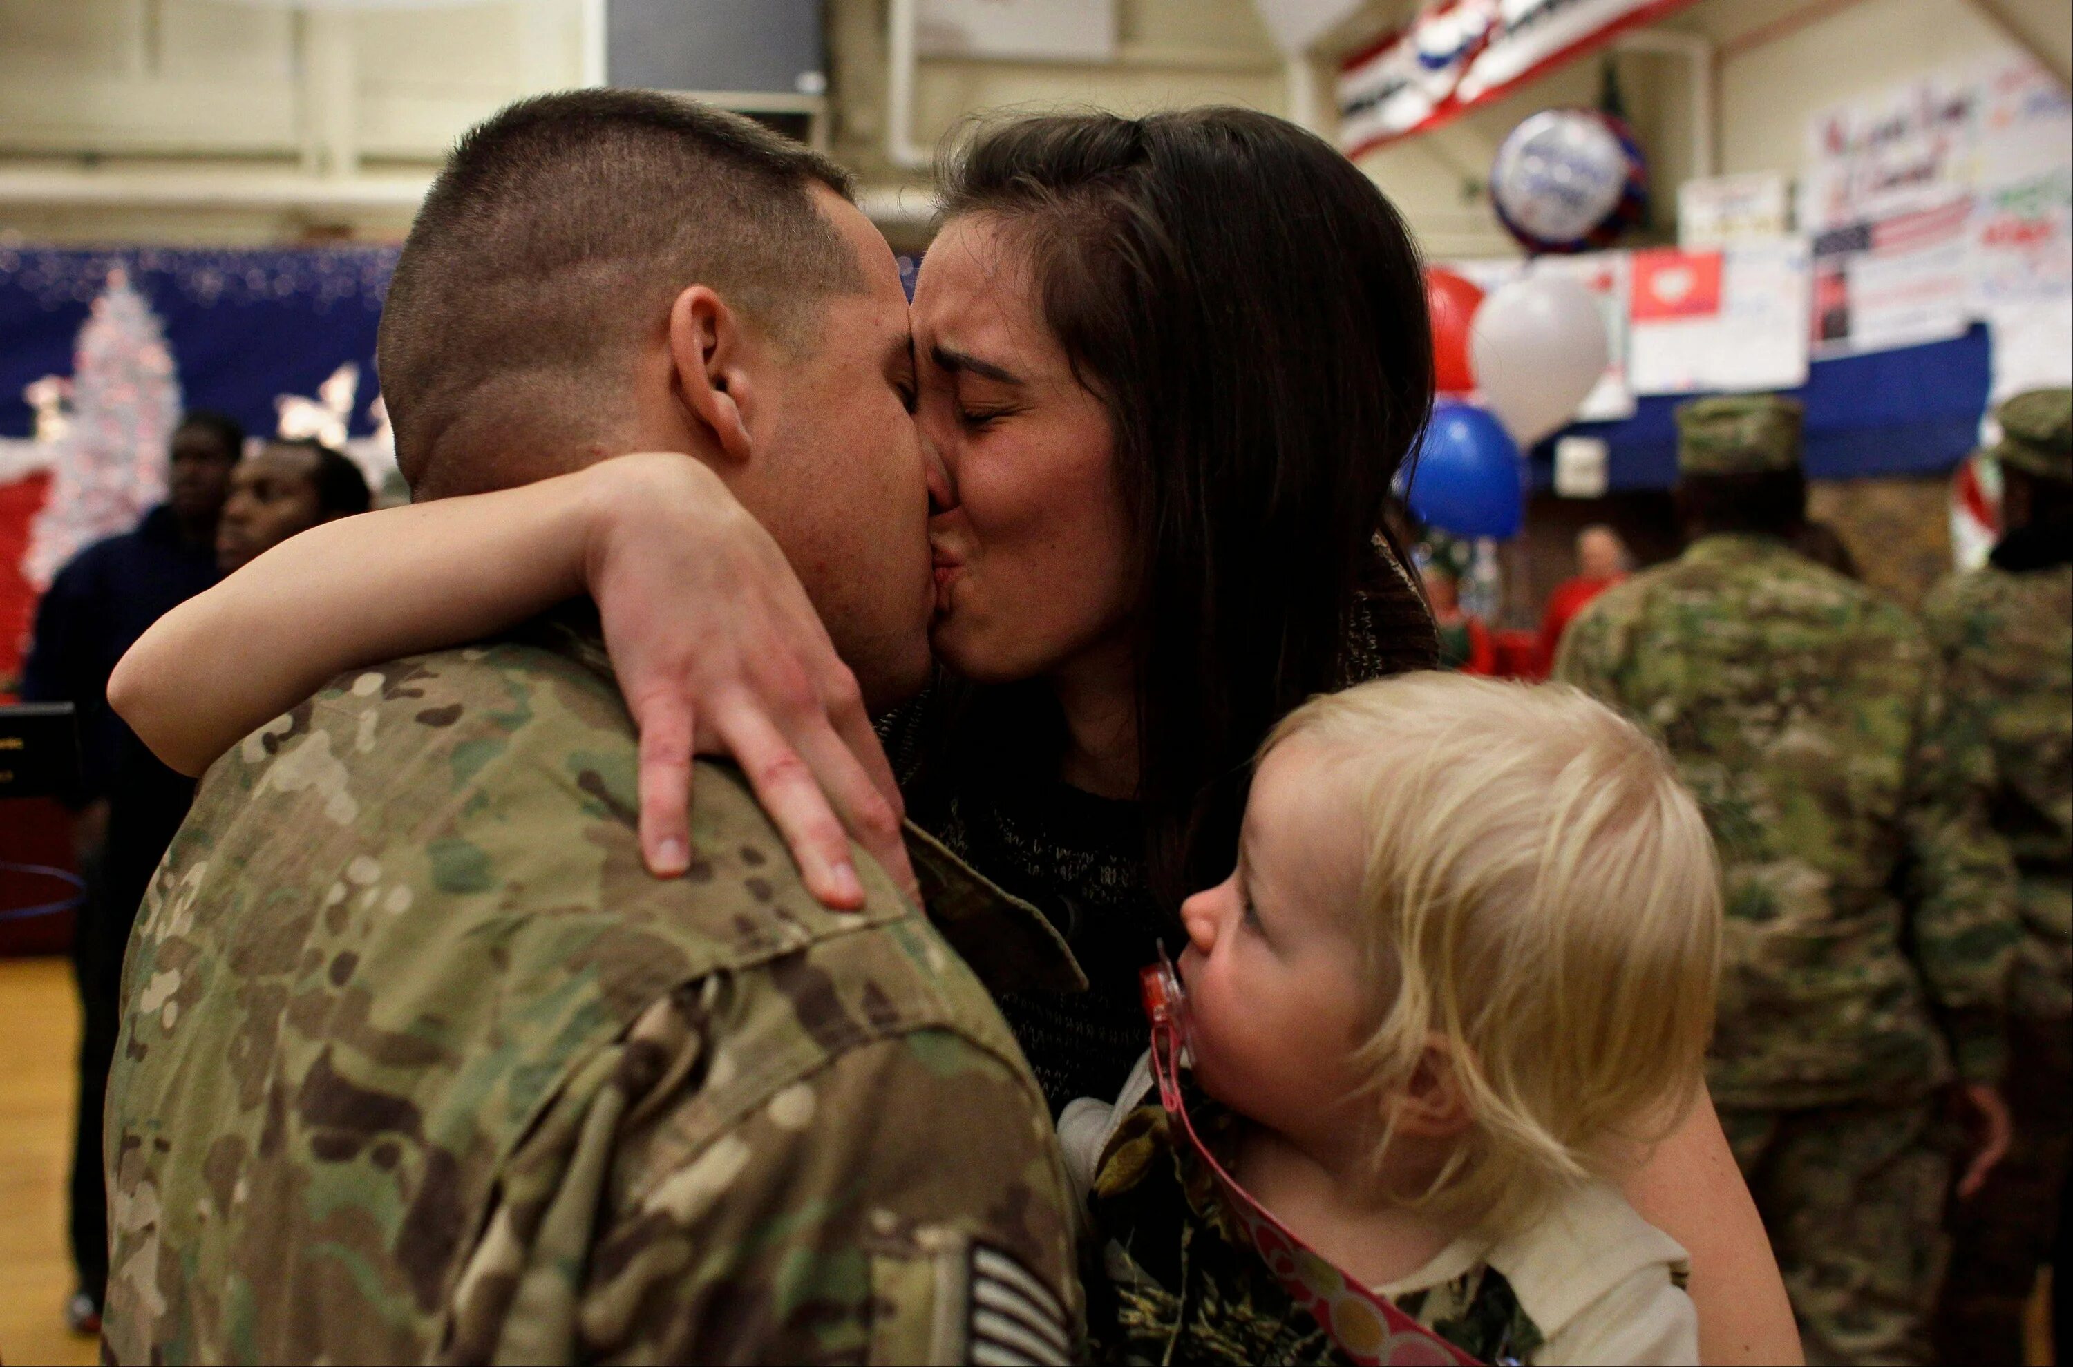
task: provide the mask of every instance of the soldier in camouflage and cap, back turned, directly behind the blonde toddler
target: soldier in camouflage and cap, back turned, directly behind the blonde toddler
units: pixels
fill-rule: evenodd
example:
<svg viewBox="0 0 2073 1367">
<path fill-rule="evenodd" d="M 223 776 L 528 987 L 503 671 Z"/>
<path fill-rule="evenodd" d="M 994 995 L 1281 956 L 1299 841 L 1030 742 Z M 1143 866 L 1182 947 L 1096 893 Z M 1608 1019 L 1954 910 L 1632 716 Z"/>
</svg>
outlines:
<svg viewBox="0 0 2073 1367">
<path fill-rule="evenodd" d="M 1555 677 L 1650 725 L 1706 808 L 1727 880 L 1708 1081 L 1808 1359 L 1924 1361 L 1947 1083 L 2005 1116 L 2013 870 L 1920 626 L 1785 543 L 1799 418 L 1768 396 L 1679 410 L 1694 543 L 1596 599 Z"/>
</svg>

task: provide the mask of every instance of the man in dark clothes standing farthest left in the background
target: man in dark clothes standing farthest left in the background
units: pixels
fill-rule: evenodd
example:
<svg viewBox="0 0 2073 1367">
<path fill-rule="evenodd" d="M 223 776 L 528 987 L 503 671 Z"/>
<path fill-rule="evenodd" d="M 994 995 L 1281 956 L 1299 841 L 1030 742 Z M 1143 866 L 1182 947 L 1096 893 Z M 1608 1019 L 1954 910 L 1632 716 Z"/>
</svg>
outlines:
<svg viewBox="0 0 2073 1367">
<path fill-rule="evenodd" d="M 102 1092 L 116 1040 L 122 949 L 143 884 L 180 828 L 193 781 L 143 748 L 108 706 L 108 675 L 122 652 L 187 599 L 216 582 L 216 524 L 245 429 L 218 412 L 189 412 L 172 433 L 166 501 L 135 530 L 75 555 L 35 609 L 23 667 L 25 702 L 79 708 L 77 812 L 87 899 L 73 928 L 73 971 L 83 1009 L 79 1116 L 73 1145 L 70 1237 L 79 1292 L 66 1319 L 95 1332 L 108 1282 L 108 1205 L 102 1195 Z M 153 845 L 155 841 L 155 845 Z"/>
</svg>

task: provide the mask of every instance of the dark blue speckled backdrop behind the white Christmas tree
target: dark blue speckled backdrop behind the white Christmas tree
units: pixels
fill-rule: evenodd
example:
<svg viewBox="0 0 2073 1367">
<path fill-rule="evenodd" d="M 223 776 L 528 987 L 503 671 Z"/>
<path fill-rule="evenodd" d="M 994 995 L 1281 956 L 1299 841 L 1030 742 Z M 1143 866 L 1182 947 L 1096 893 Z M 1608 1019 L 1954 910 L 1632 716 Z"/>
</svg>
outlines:
<svg viewBox="0 0 2073 1367">
<path fill-rule="evenodd" d="M 315 396 L 342 362 L 361 367 L 352 435 L 373 423 L 375 323 L 394 246 L 267 251 L 54 251 L 0 244 L 0 437 L 27 437 L 21 389 L 73 373 L 73 342 L 110 269 L 126 269 L 166 327 L 187 408 L 218 408 L 272 433 L 274 398 Z"/>
</svg>

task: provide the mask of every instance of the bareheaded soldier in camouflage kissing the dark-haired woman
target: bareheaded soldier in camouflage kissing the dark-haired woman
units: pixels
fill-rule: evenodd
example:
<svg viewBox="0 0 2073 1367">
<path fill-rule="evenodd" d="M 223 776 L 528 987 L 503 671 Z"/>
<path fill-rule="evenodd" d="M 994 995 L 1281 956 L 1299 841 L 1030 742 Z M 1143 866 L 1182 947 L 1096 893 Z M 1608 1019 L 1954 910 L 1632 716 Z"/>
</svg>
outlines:
<svg viewBox="0 0 2073 1367">
<path fill-rule="evenodd" d="M 471 133 L 381 319 L 417 497 L 699 456 L 786 528 L 864 698 L 918 686 L 925 474 L 881 367 L 906 296 L 842 186 L 663 95 Z M 686 360 L 705 346 L 723 402 Z M 721 460 L 705 423 L 784 394 L 788 439 Z M 784 503 L 815 497 L 840 526 Z M 1068 1361 L 1070 1195 L 987 994 L 1084 986 L 1063 944 L 922 837 L 931 915 L 860 849 L 862 905 L 831 911 L 740 775 L 701 764 L 692 795 L 688 870 L 653 878 L 634 725 L 580 613 L 342 677 L 224 756 L 124 971 L 106 1353 Z"/>
</svg>

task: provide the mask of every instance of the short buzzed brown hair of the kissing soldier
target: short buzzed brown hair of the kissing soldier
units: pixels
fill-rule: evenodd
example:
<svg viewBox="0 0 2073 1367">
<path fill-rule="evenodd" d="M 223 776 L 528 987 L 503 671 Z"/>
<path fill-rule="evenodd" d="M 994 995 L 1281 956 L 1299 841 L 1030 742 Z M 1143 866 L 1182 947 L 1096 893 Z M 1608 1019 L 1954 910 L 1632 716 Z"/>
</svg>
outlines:
<svg viewBox="0 0 2073 1367">
<path fill-rule="evenodd" d="M 425 495 L 442 433 L 489 389 L 539 420 L 609 404 L 624 381 L 603 379 L 607 367 L 690 284 L 802 344 L 813 302 L 862 288 L 815 184 L 850 193 L 848 172 L 815 151 L 655 91 L 537 95 L 468 130 L 381 311 L 381 396 L 413 493 Z M 527 391 L 539 379 L 553 402 Z M 458 493 L 483 481 L 433 483 Z"/>
</svg>

